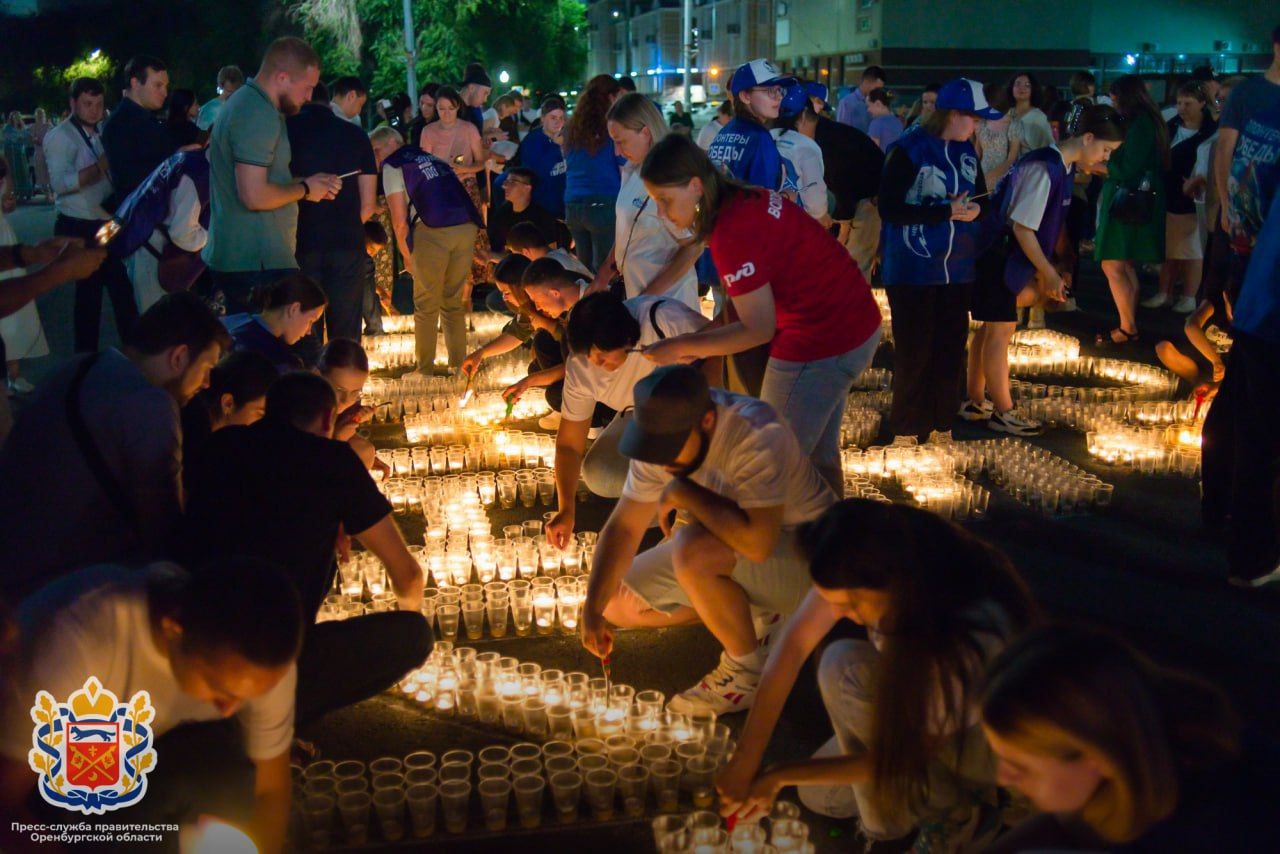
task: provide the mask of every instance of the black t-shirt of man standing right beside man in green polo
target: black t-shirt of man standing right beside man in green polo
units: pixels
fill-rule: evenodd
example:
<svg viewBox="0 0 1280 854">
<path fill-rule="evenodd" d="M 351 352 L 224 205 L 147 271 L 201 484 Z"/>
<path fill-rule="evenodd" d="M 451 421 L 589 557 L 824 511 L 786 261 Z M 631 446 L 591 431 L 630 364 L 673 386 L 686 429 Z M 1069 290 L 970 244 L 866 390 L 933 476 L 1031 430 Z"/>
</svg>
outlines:
<svg viewBox="0 0 1280 854">
<path fill-rule="evenodd" d="M 293 160 L 289 170 L 298 178 L 326 172 L 344 175 L 378 174 L 374 147 L 365 132 L 333 114 L 328 104 L 307 104 L 285 119 Z M 365 229 L 360 222 L 360 182 L 357 175 L 342 179 L 342 192 L 325 202 L 298 204 L 298 252 L 365 251 Z"/>
</svg>

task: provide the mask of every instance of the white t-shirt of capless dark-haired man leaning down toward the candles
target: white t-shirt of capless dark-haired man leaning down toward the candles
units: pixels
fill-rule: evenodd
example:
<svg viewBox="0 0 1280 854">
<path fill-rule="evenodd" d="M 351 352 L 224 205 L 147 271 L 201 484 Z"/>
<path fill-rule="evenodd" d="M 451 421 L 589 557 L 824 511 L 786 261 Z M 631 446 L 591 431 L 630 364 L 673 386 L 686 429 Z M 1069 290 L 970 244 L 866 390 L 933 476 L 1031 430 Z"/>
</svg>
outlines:
<svg viewBox="0 0 1280 854">
<path fill-rule="evenodd" d="M 655 302 L 662 335 L 649 321 Z M 666 297 L 636 297 L 623 305 L 640 321 L 640 341 L 636 347 L 652 344 L 660 338 L 698 332 L 707 325 L 707 318 Z M 586 421 L 595 412 L 596 403 L 604 403 L 618 412 L 635 406 L 636 383 L 653 373 L 654 367 L 657 365 L 643 353 L 627 353 L 626 361 L 614 371 L 593 365 L 586 356 L 570 356 L 564 362 L 564 401 L 561 405 L 561 415 L 570 421 Z"/>
</svg>

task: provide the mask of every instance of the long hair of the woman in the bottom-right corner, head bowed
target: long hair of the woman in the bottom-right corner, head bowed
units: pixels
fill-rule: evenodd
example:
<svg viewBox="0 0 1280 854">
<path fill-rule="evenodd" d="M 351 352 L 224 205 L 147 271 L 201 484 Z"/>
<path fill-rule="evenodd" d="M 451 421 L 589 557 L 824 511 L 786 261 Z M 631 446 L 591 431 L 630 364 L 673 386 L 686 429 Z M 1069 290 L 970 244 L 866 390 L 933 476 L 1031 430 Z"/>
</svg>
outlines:
<svg viewBox="0 0 1280 854">
<path fill-rule="evenodd" d="M 1178 807 L 1188 776 L 1240 750 L 1240 722 L 1222 693 L 1167 670 L 1110 635 L 1046 626 L 987 671 L 982 714 L 1001 739 L 1065 762 L 1084 748 L 1115 769 L 1080 818 L 1110 842 L 1142 836 Z"/>
</svg>

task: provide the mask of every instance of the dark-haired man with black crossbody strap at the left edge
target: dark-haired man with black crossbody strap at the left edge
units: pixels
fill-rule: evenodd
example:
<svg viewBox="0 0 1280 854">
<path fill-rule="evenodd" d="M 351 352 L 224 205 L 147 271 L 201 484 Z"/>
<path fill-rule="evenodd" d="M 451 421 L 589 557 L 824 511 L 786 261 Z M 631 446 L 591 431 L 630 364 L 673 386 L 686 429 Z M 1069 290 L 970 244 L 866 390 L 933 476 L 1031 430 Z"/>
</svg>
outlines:
<svg viewBox="0 0 1280 854">
<path fill-rule="evenodd" d="M 204 301 L 172 293 L 123 351 L 40 387 L 0 451 L 0 593 L 17 600 L 82 566 L 161 552 L 182 512 L 179 407 L 229 348 Z"/>
</svg>

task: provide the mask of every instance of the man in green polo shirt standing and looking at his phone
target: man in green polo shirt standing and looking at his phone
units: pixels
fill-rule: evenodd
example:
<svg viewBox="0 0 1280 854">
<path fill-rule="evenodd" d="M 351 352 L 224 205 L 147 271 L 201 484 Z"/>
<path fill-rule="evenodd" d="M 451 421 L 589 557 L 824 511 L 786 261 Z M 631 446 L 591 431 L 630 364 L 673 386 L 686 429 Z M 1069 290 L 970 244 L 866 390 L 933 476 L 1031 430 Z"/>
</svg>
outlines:
<svg viewBox="0 0 1280 854">
<path fill-rule="evenodd" d="M 212 216 L 204 259 L 227 314 L 250 310 L 253 288 L 298 269 L 298 202 L 342 189 L 328 173 L 294 178 L 284 119 L 311 100 L 320 58 L 301 38 L 271 42 L 257 76 L 227 99 L 209 145 Z"/>
</svg>

